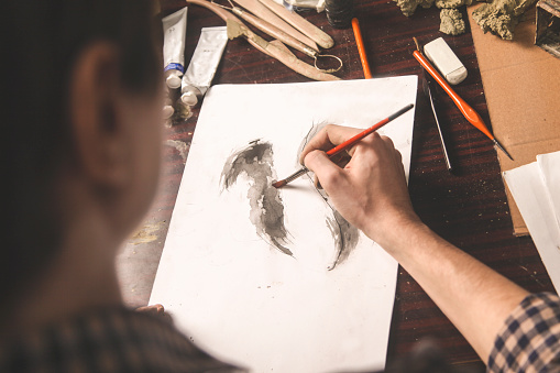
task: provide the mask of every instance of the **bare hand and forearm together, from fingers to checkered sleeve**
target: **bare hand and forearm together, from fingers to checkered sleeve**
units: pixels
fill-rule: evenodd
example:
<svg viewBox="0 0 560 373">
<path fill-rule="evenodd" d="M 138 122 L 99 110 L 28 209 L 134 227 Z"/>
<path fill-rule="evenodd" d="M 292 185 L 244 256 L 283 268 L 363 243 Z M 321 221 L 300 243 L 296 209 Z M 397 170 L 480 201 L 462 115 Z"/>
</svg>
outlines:
<svg viewBox="0 0 560 373">
<path fill-rule="evenodd" d="M 373 133 L 349 151 L 341 168 L 323 151 L 360 130 L 322 129 L 301 152 L 342 216 L 395 257 L 486 361 L 509 312 L 527 292 L 453 246 L 413 210 L 400 154 Z"/>
</svg>

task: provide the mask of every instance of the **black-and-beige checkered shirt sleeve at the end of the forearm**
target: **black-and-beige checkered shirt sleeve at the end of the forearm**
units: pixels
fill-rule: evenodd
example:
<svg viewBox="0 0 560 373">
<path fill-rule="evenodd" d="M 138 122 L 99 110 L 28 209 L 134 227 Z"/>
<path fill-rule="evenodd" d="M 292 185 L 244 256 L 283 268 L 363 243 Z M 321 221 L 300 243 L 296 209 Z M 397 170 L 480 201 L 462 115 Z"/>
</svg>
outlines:
<svg viewBox="0 0 560 373">
<path fill-rule="evenodd" d="M 560 298 L 531 294 L 497 334 L 488 372 L 560 372 Z"/>
</svg>

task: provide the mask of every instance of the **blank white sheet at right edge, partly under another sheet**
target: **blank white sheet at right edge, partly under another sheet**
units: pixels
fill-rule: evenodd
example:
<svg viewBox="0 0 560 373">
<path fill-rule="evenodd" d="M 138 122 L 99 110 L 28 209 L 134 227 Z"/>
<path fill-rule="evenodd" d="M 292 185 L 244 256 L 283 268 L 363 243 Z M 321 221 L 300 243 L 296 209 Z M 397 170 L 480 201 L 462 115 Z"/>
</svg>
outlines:
<svg viewBox="0 0 560 373">
<path fill-rule="evenodd" d="M 537 162 L 503 173 L 557 292 L 560 292 L 560 230 Z M 556 195 L 558 195 L 558 190 Z"/>
</svg>

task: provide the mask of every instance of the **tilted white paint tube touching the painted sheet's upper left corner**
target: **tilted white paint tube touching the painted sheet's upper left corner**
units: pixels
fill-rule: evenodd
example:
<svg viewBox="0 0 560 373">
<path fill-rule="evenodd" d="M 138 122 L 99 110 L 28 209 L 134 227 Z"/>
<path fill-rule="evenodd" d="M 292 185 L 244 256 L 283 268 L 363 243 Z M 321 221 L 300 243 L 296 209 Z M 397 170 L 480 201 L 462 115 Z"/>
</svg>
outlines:
<svg viewBox="0 0 560 373">
<path fill-rule="evenodd" d="M 226 26 L 202 29 L 195 54 L 180 84 L 180 99 L 185 105 L 197 105 L 210 88 L 227 43 Z"/>
</svg>

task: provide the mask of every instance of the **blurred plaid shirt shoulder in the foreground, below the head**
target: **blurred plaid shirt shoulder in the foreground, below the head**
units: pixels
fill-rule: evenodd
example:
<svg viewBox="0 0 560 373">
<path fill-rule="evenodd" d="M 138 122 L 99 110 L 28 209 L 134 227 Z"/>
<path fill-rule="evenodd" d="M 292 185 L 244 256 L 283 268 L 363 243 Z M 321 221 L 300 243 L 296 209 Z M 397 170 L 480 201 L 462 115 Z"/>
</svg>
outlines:
<svg viewBox="0 0 560 373">
<path fill-rule="evenodd" d="M 107 309 L 0 341 L 0 372 L 239 372 L 161 317 Z"/>
</svg>

